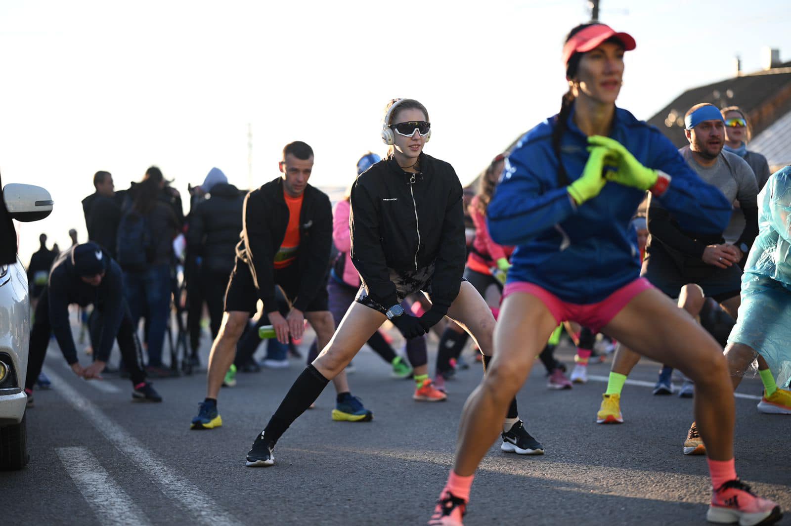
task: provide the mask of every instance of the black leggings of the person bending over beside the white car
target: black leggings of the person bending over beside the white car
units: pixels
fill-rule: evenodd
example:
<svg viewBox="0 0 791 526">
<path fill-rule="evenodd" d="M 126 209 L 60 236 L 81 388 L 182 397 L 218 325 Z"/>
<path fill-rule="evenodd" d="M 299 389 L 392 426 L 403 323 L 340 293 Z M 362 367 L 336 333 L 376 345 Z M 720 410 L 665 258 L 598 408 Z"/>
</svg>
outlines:
<svg viewBox="0 0 791 526">
<path fill-rule="evenodd" d="M 48 289 L 44 289 L 44 292 L 41 294 L 39 302 L 36 305 L 34 316 L 33 327 L 30 331 L 28 374 L 27 377 L 25 377 L 26 389 L 33 388 L 33 384 L 36 383 L 36 379 L 41 373 L 41 368 L 44 366 L 44 357 L 47 355 L 50 335 L 52 333 L 49 317 Z M 95 308 L 93 310 L 93 327 L 95 327 L 97 331 L 100 331 L 103 323 L 102 312 Z M 129 376 L 132 380 L 132 384 L 137 385 L 145 381 L 146 373 L 144 373 L 142 369 L 140 341 L 138 340 L 134 324 L 132 324 L 132 316 L 129 313 L 129 308 L 126 305 L 124 305 L 123 308 L 123 319 L 121 320 L 121 326 L 118 328 L 118 334 L 115 336 L 115 339 L 121 350 L 121 358 L 127 366 L 127 369 L 129 369 Z M 94 353 L 96 352 L 97 350 L 94 348 Z"/>
</svg>

